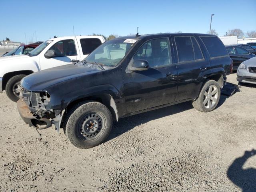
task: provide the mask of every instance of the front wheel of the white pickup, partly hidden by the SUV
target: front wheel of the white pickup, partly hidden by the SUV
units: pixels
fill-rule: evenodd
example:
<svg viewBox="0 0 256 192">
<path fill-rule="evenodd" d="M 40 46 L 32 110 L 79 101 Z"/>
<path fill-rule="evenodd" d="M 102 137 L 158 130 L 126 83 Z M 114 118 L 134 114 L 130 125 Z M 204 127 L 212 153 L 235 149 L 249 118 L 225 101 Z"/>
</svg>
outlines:
<svg viewBox="0 0 256 192">
<path fill-rule="evenodd" d="M 18 96 L 20 92 L 19 82 L 20 80 L 22 80 L 22 78 L 26 76 L 27 75 L 24 75 L 24 74 L 16 75 L 8 80 L 5 86 L 5 92 L 10 100 L 17 102 L 20 99 L 20 97 Z M 14 94 L 14 90 L 16 90 L 15 94 Z"/>
</svg>

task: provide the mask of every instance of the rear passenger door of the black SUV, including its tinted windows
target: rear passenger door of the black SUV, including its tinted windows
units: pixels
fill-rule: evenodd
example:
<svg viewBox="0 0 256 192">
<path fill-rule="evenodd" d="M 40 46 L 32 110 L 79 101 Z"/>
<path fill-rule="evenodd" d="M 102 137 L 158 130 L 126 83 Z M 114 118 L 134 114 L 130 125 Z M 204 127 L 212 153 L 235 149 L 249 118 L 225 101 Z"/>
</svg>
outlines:
<svg viewBox="0 0 256 192">
<path fill-rule="evenodd" d="M 174 36 L 178 60 L 178 90 L 175 101 L 196 98 L 202 86 L 203 76 L 211 72 L 200 45 L 194 36 Z"/>
</svg>

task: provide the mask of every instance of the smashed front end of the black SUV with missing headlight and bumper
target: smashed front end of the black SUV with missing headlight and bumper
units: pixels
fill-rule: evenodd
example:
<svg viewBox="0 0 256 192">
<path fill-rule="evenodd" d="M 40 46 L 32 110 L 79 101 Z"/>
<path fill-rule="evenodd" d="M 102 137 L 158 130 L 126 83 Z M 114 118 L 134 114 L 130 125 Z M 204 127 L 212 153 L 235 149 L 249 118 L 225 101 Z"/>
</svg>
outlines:
<svg viewBox="0 0 256 192">
<path fill-rule="evenodd" d="M 30 126 L 37 129 L 46 129 L 52 124 L 57 133 L 60 133 L 60 123 L 64 110 L 50 108 L 50 93 L 46 91 L 31 92 L 22 88 L 17 108 L 20 116 Z"/>
</svg>

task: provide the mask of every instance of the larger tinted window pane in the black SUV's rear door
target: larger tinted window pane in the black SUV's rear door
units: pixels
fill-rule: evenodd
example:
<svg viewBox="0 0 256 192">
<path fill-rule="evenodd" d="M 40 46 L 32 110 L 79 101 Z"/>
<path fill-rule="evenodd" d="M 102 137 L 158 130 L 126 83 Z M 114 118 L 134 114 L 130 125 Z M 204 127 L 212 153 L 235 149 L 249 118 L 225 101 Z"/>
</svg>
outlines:
<svg viewBox="0 0 256 192">
<path fill-rule="evenodd" d="M 174 37 L 179 62 L 194 60 L 194 51 L 190 37 Z"/>
</svg>

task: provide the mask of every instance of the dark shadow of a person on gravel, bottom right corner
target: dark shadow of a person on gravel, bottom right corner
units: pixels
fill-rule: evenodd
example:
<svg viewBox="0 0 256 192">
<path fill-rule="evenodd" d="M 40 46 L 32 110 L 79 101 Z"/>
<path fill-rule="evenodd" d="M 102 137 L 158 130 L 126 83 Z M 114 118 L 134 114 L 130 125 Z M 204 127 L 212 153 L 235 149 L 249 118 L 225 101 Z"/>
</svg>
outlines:
<svg viewBox="0 0 256 192">
<path fill-rule="evenodd" d="M 237 158 L 229 166 L 228 178 L 242 189 L 243 192 L 256 192 L 256 169 L 243 169 L 248 158 L 256 155 L 256 150 L 246 151 L 242 157 Z"/>
</svg>

